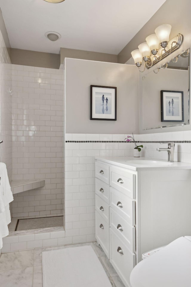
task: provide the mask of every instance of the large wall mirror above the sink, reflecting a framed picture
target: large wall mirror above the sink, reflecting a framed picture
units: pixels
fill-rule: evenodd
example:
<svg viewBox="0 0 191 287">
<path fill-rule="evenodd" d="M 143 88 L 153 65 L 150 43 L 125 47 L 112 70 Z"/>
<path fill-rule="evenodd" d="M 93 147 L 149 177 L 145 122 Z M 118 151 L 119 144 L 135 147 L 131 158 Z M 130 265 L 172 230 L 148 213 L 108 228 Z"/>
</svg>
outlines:
<svg viewBox="0 0 191 287">
<path fill-rule="evenodd" d="M 189 52 L 190 49 L 172 59 L 167 68 L 163 65 L 164 68 L 160 68 L 157 74 L 151 71 L 142 77 L 143 130 L 189 124 Z M 166 102 L 163 103 L 163 107 L 161 107 L 161 91 L 167 91 L 164 93 Z M 178 91 L 183 92 L 182 106 Z M 181 115 L 184 121 L 175 121 Z"/>
</svg>

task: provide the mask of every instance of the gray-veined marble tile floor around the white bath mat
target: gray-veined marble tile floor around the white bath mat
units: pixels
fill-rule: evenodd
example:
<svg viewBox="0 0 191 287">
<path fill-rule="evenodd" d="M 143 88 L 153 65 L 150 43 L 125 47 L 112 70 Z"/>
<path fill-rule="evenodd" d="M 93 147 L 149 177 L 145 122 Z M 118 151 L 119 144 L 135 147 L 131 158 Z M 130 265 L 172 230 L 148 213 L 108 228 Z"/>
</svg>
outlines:
<svg viewBox="0 0 191 287">
<path fill-rule="evenodd" d="M 124 287 L 124 284 L 97 242 L 39 248 L 30 251 L 3 253 L 0 257 L 0 286 L 2 287 L 43 287 L 42 252 L 91 245 L 99 258 L 111 287 Z"/>
</svg>

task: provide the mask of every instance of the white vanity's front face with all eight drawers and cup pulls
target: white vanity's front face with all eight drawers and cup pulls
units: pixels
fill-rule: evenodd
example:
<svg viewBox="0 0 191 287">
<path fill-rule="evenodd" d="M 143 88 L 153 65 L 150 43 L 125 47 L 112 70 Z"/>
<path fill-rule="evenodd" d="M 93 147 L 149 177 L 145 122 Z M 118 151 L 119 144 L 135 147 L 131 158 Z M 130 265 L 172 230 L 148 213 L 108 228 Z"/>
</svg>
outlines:
<svg viewBox="0 0 191 287">
<path fill-rule="evenodd" d="M 126 286 L 136 264 L 136 173 L 96 161 L 96 240 Z M 127 196 L 128 195 L 128 196 Z"/>
</svg>

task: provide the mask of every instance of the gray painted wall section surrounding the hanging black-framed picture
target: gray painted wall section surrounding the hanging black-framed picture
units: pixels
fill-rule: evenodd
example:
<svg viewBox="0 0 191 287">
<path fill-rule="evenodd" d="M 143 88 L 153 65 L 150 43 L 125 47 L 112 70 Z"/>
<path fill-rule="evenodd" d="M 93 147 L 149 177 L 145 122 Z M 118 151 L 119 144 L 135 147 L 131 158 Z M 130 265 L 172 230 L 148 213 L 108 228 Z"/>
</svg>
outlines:
<svg viewBox="0 0 191 287">
<path fill-rule="evenodd" d="M 136 66 L 65 59 L 66 133 L 138 133 Z M 117 120 L 90 120 L 90 85 L 117 87 Z"/>
</svg>

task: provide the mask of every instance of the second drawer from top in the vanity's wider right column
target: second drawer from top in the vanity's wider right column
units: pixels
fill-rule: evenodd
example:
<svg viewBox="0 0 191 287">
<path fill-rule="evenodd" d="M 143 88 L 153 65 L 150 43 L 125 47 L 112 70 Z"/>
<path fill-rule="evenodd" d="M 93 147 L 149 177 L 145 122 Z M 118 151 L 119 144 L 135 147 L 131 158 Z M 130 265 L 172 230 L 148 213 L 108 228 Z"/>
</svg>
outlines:
<svg viewBox="0 0 191 287">
<path fill-rule="evenodd" d="M 130 225 L 135 225 L 135 201 L 110 187 L 110 206 Z"/>
</svg>

